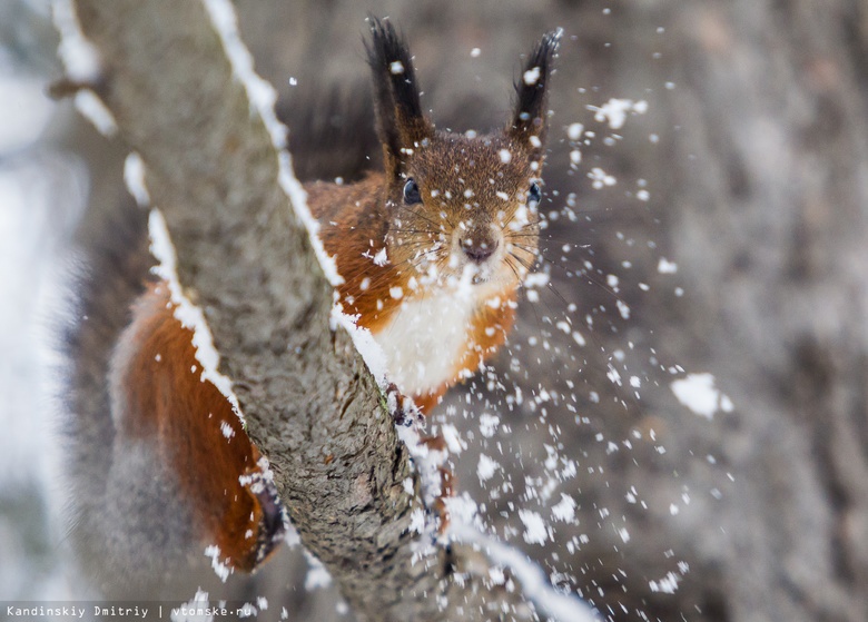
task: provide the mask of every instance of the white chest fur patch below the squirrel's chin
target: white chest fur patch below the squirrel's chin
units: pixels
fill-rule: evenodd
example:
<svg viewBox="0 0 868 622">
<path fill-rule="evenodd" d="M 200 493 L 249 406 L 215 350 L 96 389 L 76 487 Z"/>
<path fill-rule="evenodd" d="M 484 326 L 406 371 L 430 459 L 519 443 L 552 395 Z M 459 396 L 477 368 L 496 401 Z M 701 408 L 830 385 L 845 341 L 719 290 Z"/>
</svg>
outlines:
<svg viewBox="0 0 868 622">
<path fill-rule="evenodd" d="M 454 378 L 480 304 L 480 297 L 466 289 L 405 300 L 374 335 L 386 356 L 389 378 L 402 393 L 422 395 Z"/>
</svg>

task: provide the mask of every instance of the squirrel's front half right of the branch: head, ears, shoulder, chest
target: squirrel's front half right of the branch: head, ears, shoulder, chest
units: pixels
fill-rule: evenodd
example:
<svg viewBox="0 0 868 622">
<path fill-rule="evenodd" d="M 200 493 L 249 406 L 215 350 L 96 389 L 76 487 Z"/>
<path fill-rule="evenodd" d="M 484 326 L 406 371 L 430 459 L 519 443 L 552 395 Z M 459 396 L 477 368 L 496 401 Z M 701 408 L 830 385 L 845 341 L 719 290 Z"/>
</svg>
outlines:
<svg viewBox="0 0 868 622">
<path fill-rule="evenodd" d="M 371 32 L 384 170 L 305 189 L 344 279 L 338 303 L 372 332 L 389 379 L 424 413 L 503 344 L 536 261 L 559 36 L 543 37 L 527 57 L 505 127 L 476 136 L 436 130 L 422 111 L 406 42 L 388 21 L 371 18 Z"/>
</svg>

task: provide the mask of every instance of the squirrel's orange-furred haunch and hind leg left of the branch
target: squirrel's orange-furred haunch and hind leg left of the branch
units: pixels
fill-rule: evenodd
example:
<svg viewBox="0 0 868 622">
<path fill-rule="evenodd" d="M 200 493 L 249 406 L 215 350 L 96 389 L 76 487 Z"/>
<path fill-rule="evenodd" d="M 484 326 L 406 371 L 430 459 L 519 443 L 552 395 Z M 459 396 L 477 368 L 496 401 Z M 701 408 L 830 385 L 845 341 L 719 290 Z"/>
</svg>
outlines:
<svg viewBox="0 0 868 622">
<path fill-rule="evenodd" d="M 250 571 L 279 540 L 279 501 L 270 485 L 240 483 L 262 475 L 259 452 L 226 396 L 201 379 L 193 332 L 172 313 L 165 284 L 136 302 L 114 358 L 116 423 L 121 434 L 152 442 L 172 466 L 205 544 Z"/>
</svg>

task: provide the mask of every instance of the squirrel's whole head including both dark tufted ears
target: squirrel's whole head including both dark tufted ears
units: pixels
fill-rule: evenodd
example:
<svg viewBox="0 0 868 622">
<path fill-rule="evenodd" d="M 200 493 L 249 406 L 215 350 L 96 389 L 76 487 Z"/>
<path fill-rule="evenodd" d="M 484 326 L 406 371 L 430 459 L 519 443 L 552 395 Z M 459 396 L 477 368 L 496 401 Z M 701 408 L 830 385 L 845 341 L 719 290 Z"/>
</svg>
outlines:
<svg viewBox="0 0 868 622">
<path fill-rule="evenodd" d="M 406 43 L 387 21 L 371 18 L 371 30 L 389 261 L 423 284 L 517 286 L 536 261 L 546 87 L 560 33 L 527 57 L 505 127 L 476 136 L 436 130 Z"/>
</svg>

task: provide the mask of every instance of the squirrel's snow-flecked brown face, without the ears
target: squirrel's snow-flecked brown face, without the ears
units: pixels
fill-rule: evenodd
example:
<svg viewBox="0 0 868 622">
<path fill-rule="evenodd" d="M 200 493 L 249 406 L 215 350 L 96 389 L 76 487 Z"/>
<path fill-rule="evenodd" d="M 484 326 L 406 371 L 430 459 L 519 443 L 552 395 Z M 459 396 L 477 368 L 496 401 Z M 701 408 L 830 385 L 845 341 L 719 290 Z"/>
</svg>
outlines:
<svg viewBox="0 0 868 622">
<path fill-rule="evenodd" d="M 517 286 L 536 261 L 540 162 L 505 135 L 434 132 L 389 184 L 388 256 L 422 286 Z"/>
</svg>

